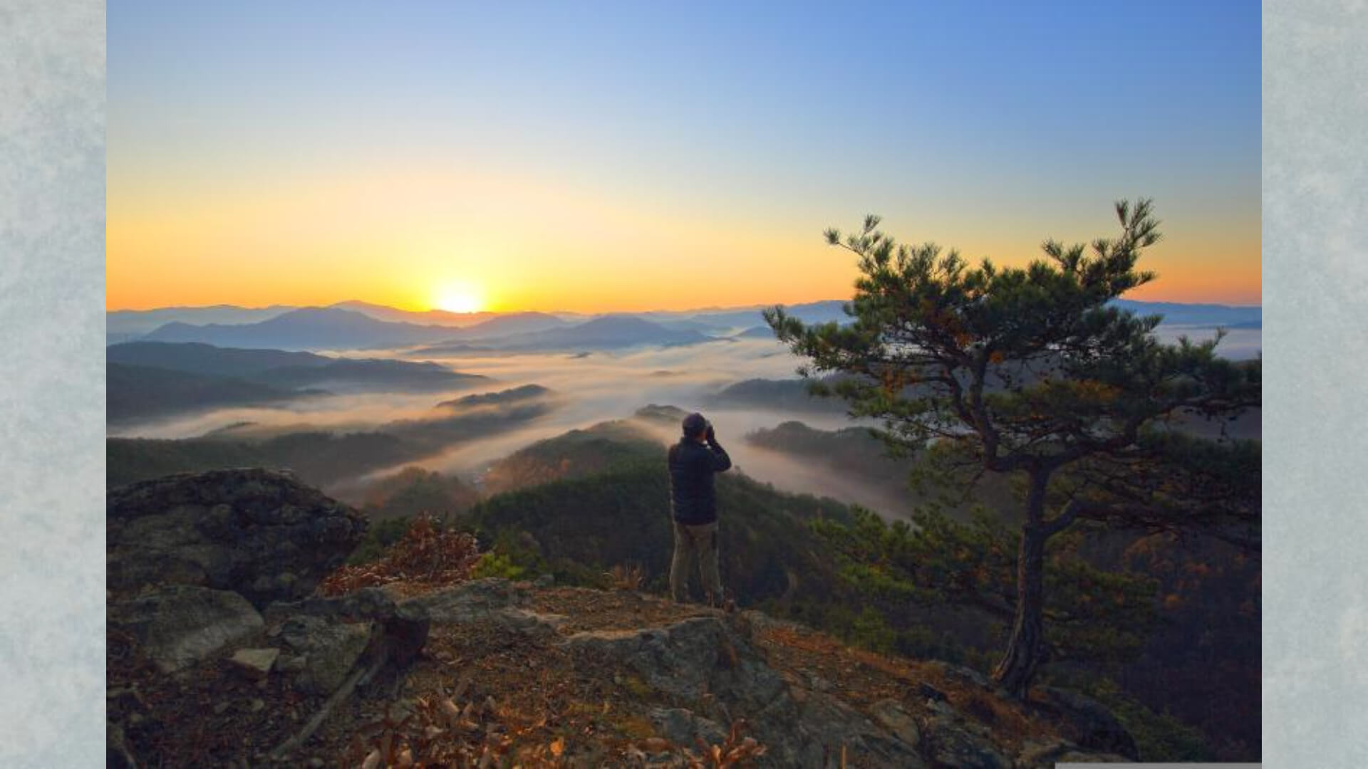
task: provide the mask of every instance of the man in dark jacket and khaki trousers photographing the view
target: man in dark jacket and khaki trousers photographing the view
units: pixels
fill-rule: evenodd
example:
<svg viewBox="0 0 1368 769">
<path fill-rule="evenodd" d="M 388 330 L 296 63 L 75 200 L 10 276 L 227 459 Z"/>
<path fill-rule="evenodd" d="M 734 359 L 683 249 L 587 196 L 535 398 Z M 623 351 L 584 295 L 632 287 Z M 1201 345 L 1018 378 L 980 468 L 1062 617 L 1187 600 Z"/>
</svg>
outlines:
<svg viewBox="0 0 1368 769">
<path fill-rule="evenodd" d="M 713 424 L 700 413 L 684 417 L 684 436 L 670 446 L 670 513 L 674 517 L 674 560 L 670 592 L 688 599 L 688 573 L 698 554 L 703 590 L 711 606 L 722 606 L 722 576 L 717 568 L 717 495 L 713 473 L 732 467 L 717 442 Z"/>
</svg>

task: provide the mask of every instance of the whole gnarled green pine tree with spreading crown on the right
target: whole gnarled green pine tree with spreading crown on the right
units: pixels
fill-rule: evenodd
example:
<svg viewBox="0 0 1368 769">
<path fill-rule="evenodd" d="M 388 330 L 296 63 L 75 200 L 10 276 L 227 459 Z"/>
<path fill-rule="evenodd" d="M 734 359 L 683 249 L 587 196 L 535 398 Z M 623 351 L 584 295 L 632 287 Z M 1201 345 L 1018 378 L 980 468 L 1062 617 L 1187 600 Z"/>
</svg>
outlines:
<svg viewBox="0 0 1368 769">
<path fill-rule="evenodd" d="M 1116 204 L 1122 233 L 1090 245 L 1047 241 L 1025 268 L 970 267 L 934 244 L 908 246 L 867 216 L 826 239 L 859 257 L 850 323 L 804 324 L 765 311 L 808 363 L 810 390 L 876 417 L 896 453 L 930 449 L 947 467 L 1025 480 L 1014 623 L 993 677 L 1023 696 L 1044 642 L 1045 542 L 1083 521 L 1201 531 L 1257 547 L 1259 446 L 1198 420 L 1260 405 L 1260 363 L 1215 339 L 1159 342 L 1160 316 L 1112 300 L 1155 279 L 1137 271 L 1159 241 L 1152 204 Z M 839 376 L 817 379 L 817 372 Z"/>
</svg>

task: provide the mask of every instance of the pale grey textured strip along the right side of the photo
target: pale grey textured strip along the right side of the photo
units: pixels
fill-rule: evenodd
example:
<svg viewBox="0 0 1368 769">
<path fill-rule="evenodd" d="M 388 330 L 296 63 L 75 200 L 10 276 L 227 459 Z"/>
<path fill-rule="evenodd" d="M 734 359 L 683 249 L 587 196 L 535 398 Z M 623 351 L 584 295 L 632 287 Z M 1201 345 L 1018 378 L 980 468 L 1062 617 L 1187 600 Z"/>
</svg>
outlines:
<svg viewBox="0 0 1368 769">
<path fill-rule="evenodd" d="M 1368 3 L 1264 3 L 1264 765 L 1368 766 Z"/>
</svg>

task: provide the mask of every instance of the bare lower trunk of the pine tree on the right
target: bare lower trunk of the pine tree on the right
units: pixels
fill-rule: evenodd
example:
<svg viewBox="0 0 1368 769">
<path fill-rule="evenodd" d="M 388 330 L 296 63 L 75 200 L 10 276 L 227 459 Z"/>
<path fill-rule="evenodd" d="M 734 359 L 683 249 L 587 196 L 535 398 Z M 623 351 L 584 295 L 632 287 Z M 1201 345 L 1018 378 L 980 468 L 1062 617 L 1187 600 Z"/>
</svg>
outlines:
<svg viewBox="0 0 1368 769">
<path fill-rule="evenodd" d="M 996 680 L 1012 696 L 1025 699 L 1036 676 L 1045 636 L 1041 614 L 1045 608 L 1045 510 L 1047 478 L 1031 478 L 1027 498 L 1027 521 L 1022 527 L 1021 547 L 1016 554 L 1016 617 L 997 668 Z"/>
</svg>

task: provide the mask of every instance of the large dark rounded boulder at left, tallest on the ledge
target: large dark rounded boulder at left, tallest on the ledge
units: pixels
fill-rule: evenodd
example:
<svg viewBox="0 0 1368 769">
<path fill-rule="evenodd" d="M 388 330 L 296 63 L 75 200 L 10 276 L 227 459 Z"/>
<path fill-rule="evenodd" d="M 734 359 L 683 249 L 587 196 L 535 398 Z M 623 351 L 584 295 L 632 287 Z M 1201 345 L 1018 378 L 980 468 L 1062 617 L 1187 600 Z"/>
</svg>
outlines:
<svg viewBox="0 0 1368 769">
<path fill-rule="evenodd" d="M 224 469 L 111 490 L 105 525 L 111 590 L 194 584 L 261 609 L 313 592 L 367 520 L 289 473 Z"/>
</svg>

